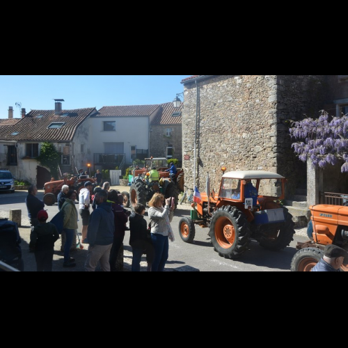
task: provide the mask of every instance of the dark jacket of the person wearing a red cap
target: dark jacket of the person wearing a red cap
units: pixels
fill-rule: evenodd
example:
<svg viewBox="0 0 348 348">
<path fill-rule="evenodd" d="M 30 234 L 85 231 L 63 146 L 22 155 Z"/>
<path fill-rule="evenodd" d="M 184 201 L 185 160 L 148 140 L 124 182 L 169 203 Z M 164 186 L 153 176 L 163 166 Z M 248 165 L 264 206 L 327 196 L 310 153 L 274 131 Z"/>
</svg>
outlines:
<svg viewBox="0 0 348 348">
<path fill-rule="evenodd" d="M 59 234 L 53 223 L 39 223 L 30 234 L 29 248 L 35 251 L 50 250 L 58 239 Z"/>
</svg>

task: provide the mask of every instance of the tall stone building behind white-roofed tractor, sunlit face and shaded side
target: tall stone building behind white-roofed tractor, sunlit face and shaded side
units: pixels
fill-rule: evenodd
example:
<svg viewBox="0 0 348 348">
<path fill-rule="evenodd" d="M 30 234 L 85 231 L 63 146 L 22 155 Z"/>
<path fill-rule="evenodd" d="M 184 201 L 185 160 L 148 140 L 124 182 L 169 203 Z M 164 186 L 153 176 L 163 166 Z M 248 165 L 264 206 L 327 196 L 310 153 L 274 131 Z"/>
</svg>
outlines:
<svg viewBox="0 0 348 348">
<path fill-rule="evenodd" d="M 287 193 L 306 188 L 306 164 L 294 156 L 289 127 L 304 114 L 317 116 L 324 75 L 196 75 L 182 84 L 187 186 L 193 187 L 197 128 L 198 189 L 205 190 L 209 172 L 212 188 L 219 191 L 221 166 L 284 175 L 289 179 Z"/>
</svg>

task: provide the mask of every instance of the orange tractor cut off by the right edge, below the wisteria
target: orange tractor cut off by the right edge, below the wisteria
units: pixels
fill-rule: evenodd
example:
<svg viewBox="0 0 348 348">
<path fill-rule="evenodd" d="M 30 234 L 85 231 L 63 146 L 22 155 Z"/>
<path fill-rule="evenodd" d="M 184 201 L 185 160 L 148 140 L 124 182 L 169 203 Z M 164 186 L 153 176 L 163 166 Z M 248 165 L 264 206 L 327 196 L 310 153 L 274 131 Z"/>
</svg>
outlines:
<svg viewBox="0 0 348 348">
<path fill-rule="evenodd" d="M 292 258 L 291 271 L 309 272 L 324 255 L 324 247 L 329 244 L 340 246 L 348 251 L 348 207 L 339 195 L 342 205 L 312 205 L 311 221 L 308 224 L 308 242 L 298 242 L 299 249 Z M 348 271 L 348 265 L 343 264 L 342 271 Z"/>
</svg>

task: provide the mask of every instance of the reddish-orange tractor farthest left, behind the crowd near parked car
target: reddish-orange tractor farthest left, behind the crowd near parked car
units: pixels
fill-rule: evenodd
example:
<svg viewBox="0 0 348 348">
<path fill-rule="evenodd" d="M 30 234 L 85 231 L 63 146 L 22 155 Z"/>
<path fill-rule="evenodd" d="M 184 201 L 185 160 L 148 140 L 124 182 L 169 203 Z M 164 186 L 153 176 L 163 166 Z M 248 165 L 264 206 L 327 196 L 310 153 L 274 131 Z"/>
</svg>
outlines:
<svg viewBox="0 0 348 348">
<path fill-rule="evenodd" d="M 84 184 L 87 181 L 92 182 L 93 187 L 95 186 L 95 180 L 87 175 L 81 175 L 80 177 L 79 175 L 74 175 L 70 180 L 65 177 L 64 180 L 46 182 L 43 202 L 45 205 L 54 205 L 54 203 L 57 203 L 57 196 L 61 192 L 63 185 L 68 185 L 70 189 L 77 191 L 77 199 L 79 199 L 79 192 L 84 188 Z"/>
</svg>

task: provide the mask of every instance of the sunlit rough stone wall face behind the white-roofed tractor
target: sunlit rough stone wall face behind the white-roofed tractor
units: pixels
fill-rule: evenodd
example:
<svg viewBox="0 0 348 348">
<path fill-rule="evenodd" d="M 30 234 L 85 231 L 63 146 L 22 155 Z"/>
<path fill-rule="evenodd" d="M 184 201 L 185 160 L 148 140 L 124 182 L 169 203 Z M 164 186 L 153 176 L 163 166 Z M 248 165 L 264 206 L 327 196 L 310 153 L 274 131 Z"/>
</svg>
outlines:
<svg viewBox="0 0 348 348">
<path fill-rule="evenodd" d="M 276 75 L 220 75 L 198 81 L 199 157 L 197 186 L 205 190 L 209 172 L 211 187 L 219 191 L 221 166 L 228 171 L 277 171 Z M 186 84 L 182 111 L 185 182 L 193 187 L 196 120 L 195 84 Z"/>
</svg>

